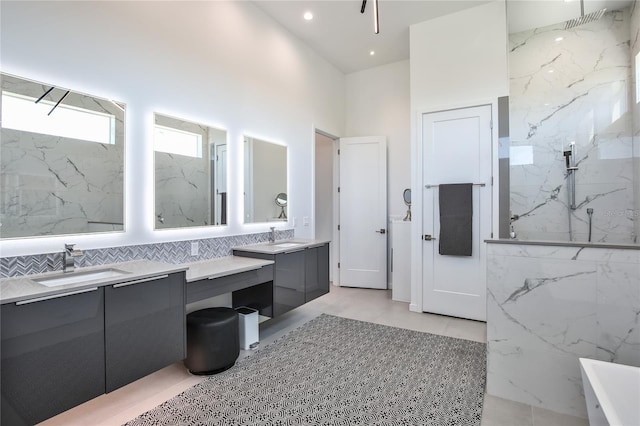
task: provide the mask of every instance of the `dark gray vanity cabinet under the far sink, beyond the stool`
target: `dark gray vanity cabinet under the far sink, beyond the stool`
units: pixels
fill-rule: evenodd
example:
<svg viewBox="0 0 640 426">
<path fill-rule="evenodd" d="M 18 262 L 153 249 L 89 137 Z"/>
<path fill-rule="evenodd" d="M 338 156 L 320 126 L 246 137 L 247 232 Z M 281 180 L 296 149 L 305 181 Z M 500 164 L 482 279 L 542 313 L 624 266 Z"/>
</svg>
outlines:
<svg viewBox="0 0 640 426">
<path fill-rule="evenodd" d="M 275 262 L 274 317 L 329 292 L 329 244 L 277 254 L 236 249 L 233 254 Z"/>
</svg>

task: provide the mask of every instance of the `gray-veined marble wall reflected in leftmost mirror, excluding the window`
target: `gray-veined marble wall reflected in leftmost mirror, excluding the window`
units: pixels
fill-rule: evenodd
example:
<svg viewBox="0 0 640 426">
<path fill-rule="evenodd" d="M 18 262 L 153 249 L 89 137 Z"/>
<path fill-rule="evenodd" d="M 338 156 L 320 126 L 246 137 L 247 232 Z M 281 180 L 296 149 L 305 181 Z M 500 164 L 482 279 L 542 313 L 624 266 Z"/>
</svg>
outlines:
<svg viewBox="0 0 640 426">
<path fill-rule="evenodd" d="M 39 98 L 49 87 L 2 76 L 3 90 L 32 98 Z M 56 89 L 45 100 L 57 102 L 62 94 Z M 115 143 L 2 128 L 2 238 L 124 228 L 124 109 L 73 92 L 64 98 L 64 105 L 114 116 Z"/>
</svg>

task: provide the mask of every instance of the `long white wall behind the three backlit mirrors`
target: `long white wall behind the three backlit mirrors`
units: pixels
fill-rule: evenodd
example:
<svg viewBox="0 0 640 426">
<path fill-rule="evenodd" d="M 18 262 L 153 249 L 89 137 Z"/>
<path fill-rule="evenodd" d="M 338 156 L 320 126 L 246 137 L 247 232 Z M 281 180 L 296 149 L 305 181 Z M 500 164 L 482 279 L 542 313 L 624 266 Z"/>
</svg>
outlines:
<svg viewBox="0 0 640 426">
<path fill-rule="evenodd" d="M 314 129 L 344 134 L 345 78 L 250 2 L 3 1 L 0 31 L 3 72 L 127 104 L 126 232 L 2 256 L 267 231 L 242 224 L 245 133 L 289 146 L 289 217 L 312 216 Z M 153 112 L 228 130 L 229 226 L 153 231 Z"/>
</svg>

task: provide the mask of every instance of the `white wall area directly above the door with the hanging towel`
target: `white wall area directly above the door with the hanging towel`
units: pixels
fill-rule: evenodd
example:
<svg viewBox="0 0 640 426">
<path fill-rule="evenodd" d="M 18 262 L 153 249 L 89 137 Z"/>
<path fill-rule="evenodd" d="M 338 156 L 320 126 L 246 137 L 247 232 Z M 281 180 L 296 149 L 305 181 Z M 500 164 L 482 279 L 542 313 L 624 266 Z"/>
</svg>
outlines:
<svg viewBox="0 0 640 426">
<path fill-rule="evenodd" d="M 504 1 L 415 24 L 409 32 L 411 111 L 471 105 L 509 94 Z"/>
</svg>

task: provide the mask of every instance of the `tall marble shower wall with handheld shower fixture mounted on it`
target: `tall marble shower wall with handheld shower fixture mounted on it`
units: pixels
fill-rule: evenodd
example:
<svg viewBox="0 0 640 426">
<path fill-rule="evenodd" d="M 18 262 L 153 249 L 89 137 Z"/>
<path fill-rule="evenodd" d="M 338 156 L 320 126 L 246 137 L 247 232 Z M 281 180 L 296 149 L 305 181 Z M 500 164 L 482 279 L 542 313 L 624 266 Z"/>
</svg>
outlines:
<svg viewBox="0 0 640 426">
<path fill-rule="evenodd" d="M 518 239 L 633 243 L 631 12 L 510 35 L 511 211 Z M 563 150 L 576 144 L 569 218 Z M 636 159 L 637 161 L 637 159 Z M 635 179 L 638 186 L 638 179 Z"/>
</svg>

